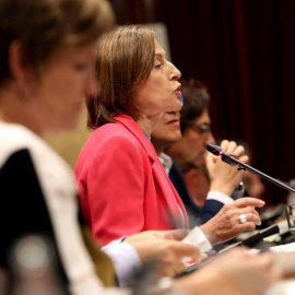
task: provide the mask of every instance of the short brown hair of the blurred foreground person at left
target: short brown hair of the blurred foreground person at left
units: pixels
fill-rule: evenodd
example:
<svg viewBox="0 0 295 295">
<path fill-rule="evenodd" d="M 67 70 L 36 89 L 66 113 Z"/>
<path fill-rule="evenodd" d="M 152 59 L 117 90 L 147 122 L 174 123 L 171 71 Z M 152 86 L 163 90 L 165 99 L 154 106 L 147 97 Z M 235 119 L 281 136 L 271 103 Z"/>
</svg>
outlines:
<svg viewBox="0 0 295 295">
<path fill-rule="evenodd" d="M 114 20 L 105 0 L 1 0 L 0 85 L 11 79 L 13 42 L 21 44 L 23 62 L 38 71 L 60 46 L 95 42 Z"/>
</svg>

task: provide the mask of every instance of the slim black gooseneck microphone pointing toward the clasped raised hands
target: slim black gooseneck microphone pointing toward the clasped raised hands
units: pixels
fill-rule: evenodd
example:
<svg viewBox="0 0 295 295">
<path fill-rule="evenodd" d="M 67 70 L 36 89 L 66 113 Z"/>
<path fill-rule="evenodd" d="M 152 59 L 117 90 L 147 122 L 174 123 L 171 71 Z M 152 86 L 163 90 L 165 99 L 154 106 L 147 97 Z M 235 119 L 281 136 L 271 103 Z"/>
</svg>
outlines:
<svg viewBox="0 0 295 295">
<path fill-rule="evenodd" d="M 259 172 L 256 168 L 253 168 L 253 167 L 238 161 L 237 158 L 231 156 L 225 151 L 223 151 L 221 146 L 209 143 L 209 144 L 206 144 L 205 148 L 212 154 L 214 154 L 216 156 L 220 156 L 223 162 L 229 164 L 231 166 L 236 166 L 238 170 L 247 170 L 247 172 L 257 174 L 257 175 L 263 177 L 268 181 L 270 181 L 270 182 L 272 182 L 272 184 L 274 184 L 274 185 L 276 185 L 279 187 L 282 187 L 282 188 L 284 188 L 284 189 L 286 189 L 288 191 L 295 192 L 295 189 L 293 187 L 284 184 L 283 181 L 278 180 L 275 178 L 272 178 L 272 177 L 268 176 L 267 174 L 264 174 L 262 172 Z"/>
</svg>

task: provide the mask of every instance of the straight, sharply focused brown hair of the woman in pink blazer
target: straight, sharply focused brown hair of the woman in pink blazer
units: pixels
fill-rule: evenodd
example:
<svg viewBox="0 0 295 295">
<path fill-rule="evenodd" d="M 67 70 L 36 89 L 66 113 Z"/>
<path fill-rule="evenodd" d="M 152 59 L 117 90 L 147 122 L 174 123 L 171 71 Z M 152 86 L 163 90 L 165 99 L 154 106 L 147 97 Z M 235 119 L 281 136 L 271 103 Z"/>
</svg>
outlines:
<svg viewBox="0 0 295 295">
<path fill-rule="evenodd" d="M 97 44 L 96 72 L 101 92 L 87 101 L 88 127 L 114 121 L 119 114 L 137 118 L 141 110 L 134 102 L 137 87 L 148 80 L 154 64 L 155 33 L 138 26 L 118 26 Z"/>
</svg>

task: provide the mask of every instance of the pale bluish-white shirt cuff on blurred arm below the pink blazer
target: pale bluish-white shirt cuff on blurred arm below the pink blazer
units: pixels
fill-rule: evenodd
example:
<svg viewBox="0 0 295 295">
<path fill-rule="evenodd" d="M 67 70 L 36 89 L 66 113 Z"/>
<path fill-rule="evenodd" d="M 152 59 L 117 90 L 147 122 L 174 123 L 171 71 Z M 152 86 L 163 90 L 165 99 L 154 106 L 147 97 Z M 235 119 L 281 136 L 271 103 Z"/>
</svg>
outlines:
<svg viewBox="0 0 295 295">
<path fill-rule="evenodd" d="M 137 250 L 129 243 L 121 243 L 122 238 L 102 247 L 113 260 L 120 286 L 133 283 L 138 270 L 142 267 Z"/>
</svg>

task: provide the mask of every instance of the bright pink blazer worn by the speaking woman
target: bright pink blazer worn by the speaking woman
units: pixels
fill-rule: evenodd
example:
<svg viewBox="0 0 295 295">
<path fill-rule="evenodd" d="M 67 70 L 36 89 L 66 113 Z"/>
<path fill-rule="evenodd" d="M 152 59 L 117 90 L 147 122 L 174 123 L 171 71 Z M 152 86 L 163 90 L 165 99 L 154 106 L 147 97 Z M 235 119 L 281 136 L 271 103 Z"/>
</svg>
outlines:
<svg viewBox="0 0 295 295">
<path fill-rule="evenodd" d="M 186 209 L 152 143 L 130 116 L 115 119 L 92 133 L 75 165 L 82 213 L 96 240 L 188 227 Z"/>
</svg>

